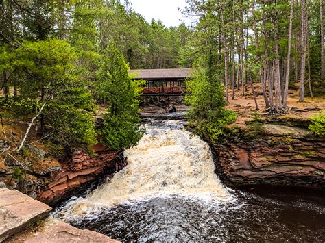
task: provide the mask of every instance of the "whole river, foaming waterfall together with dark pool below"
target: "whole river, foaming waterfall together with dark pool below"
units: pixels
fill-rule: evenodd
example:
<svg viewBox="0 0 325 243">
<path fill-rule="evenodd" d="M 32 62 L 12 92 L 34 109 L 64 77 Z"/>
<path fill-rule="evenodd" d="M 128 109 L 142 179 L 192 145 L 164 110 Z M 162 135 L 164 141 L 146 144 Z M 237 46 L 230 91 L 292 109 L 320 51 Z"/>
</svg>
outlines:
<svg viewBox="0 0 325 243">
<path fill-rule="evenodd" d="M 226 188 L 182 120 L 150 120 L 128 166 L 52 216 L 123 242 L 325 240 L 322 191 Z"/>
</svg>

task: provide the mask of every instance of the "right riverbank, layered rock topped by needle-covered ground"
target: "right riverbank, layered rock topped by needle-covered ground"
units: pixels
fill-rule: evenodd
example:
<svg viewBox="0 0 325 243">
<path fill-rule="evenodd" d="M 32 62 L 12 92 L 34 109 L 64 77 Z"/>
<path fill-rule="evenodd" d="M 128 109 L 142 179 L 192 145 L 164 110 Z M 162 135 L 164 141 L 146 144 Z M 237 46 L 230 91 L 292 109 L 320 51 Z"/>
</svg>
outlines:
<svg viewBox="0 0 325 243">
<path fill-rule="evenodd" d="M 226 107 L 237 112 L 226 140 L 210 143 L 216 153 L 216 171 L 228 185 L 302 186 L 325 188 L 325 138 L 315 136 L 309 118 L 325 109 L 324 97 L 298 101 L 298 90 L 289 90 L 289 111 L 273 114 L 265 109 L 261 87 L 256 84 L 256 111 L 252 91 Z"/>
</svg>

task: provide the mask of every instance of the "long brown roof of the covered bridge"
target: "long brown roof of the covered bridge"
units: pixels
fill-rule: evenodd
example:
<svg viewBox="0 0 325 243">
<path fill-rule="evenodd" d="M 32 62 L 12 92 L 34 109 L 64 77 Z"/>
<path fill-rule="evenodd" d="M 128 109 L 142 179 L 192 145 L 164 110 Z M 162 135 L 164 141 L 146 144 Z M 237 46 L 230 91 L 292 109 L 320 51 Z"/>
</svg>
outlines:
<svg viewBox="0 0 325 243">
<path fill-rule="evenodd" d="M 184 79 L 189 76 L 191 68 L 139 69 L 129 73 L 139 73 L 136 79 Z"/>
</svg>

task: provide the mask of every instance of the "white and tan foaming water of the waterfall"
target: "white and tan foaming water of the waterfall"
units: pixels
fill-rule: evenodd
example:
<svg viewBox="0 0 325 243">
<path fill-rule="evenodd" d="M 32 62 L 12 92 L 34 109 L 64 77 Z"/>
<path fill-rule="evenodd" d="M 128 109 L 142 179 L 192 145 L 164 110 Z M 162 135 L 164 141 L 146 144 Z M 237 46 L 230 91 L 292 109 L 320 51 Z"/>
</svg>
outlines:
<svg viewBox="0 0 325 243">
<path fill-rule="evenodd" d="M 179 194 L 224 201 L 230 198 L 214 172 L 208 144 L 182 124 L 146 125 L 139 144 L 125 151 L 128 166 L 110 181 L 65 205 L 65 213 L 89 214 L 102 207 Z"/>
</svg>

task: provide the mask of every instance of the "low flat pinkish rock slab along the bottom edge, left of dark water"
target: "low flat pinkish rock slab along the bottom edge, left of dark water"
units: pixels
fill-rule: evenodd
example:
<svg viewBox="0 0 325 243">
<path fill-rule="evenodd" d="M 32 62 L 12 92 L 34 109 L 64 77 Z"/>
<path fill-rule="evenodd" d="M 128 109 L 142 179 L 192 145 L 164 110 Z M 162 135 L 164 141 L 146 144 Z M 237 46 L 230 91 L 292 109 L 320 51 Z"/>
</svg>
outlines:
<svg viewBox="0 0 325 243">
<path fill-rule="evenodd" d="M 37 229 L 36 233 L 17 235 L 9 242 L 26 242 L 26 243 L 89 243 L 89 242 L 109 242 L 115 243 L 117 240 L 112 240 L 106 235 L 89 231 L 88 229 L 77 229 L 64 222 L 52 222 Z"/>
</svg>

